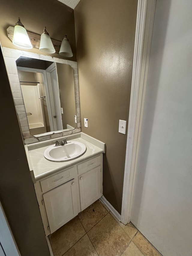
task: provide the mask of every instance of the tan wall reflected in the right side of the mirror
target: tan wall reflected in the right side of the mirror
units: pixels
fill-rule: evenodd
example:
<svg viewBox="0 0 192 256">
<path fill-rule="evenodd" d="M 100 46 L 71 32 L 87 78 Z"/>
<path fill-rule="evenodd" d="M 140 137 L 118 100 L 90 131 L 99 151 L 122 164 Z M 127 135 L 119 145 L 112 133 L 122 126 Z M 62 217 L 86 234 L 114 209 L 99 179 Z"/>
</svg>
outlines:
<svg viewBox="0 0 192 256">
<path fill-rule="evenodd" d="M 76 107 L 73 68 L 70 65 L 61 63 L 56 63 L 56 67 L 60 102 L 63 108 L 63 114 L 61 114 L 63 129 L 66 129 L 67 125 L 75 128 Z"/>
</svg>

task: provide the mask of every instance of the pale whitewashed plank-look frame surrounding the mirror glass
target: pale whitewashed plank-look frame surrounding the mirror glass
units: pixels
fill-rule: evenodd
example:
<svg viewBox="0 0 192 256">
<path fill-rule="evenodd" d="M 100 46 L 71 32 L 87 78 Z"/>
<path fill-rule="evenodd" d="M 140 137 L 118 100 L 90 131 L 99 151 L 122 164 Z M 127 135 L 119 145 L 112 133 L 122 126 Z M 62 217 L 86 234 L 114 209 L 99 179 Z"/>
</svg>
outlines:
<svg viewBox="0 0 192 256">
<path fill-rule="evenodd" d="M 30 53 L 30 52 L 11 49 L 11 48 L 7 48 L 7 47 L 2 47 L 2 53 L 3 53 L 5 66 L 7 69 L 7 75 L 9 78 L 10 88 L 12 91 L 13 100 L 15 103 L 15 108 L 16 108 L 16 112 L 18 115 L 24 143 L 31 144 L 31 143 L 35 143 L 35 142 L 39 142 L 39 141 L 43 141 L 43 140 L 55 139 L 58 137 L 62 137 L 62 136 L 66 136 L 69 134 L 74 134 L 74 133 L 80 132 L 81 131 L 81 120 L 80 120 L 79 80 L 78 80 L 77 62 L 66 60 L 66 59 L 58 59 L 55 57 L 53 58 L 51 56 L 45 56 L 45 55 L 37 54 L 37 53 Z M 19 76 L 18 76 L 17 66 L 16 66 L 16 60 L 20 56 L 29 57 L 29 58 L 33 58 L 33 59 L 52 61 L 52 62 L 56 62 L 56 63 L 68 64 L 73 68 L 74 86 L 75 86 L 75 104 L 76 104 L 76 116 L 77 116 L 77 125 L 74 130 L 63 131 L 63 132 L 58 132 L 58 133 L 54 131 L 53 134 L 44 135 L 44 136 L 40 136 L 40 137 L 35 137 L 30 134 L 24 102 L 22 102 L 22 105 L 21 105 L 21 103 L 15 101 L 15 99 L 22 98 L 21 86 L 20 86 Z M 26 119 L 27 123 L 22 121 L 23 122 L 23 124 L 22 124 L 20 122 L 20 120 L 25 120 L 25 119 Z"/>
</svg>

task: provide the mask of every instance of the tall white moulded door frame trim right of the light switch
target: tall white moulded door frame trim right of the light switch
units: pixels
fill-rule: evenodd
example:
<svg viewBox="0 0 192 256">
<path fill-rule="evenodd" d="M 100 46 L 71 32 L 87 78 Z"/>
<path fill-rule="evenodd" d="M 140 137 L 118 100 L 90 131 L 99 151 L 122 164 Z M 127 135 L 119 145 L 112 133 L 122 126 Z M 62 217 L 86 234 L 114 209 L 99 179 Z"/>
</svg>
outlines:
<svg viewBox="0 0 192 256">
<path fill-rule="evenodd" d="M 131 221 L 156 0 L 139 0 L 125 158 L 121 222 Z"/>
</svg>

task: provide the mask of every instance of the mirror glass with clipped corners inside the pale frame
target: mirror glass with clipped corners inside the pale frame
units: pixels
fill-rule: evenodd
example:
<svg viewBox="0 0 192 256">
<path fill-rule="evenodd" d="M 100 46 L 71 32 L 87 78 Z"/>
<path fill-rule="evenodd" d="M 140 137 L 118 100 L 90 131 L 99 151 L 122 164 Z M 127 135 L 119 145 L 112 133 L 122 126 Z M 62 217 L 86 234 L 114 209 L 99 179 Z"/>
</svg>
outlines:
<svg viewBox="0 0 192 256">
<path fill-rule="evenodd" d="M 22 56 L 16 66 L 30 134 L 39 137 L 76 128 L 73 68 Z"/>
</svg>

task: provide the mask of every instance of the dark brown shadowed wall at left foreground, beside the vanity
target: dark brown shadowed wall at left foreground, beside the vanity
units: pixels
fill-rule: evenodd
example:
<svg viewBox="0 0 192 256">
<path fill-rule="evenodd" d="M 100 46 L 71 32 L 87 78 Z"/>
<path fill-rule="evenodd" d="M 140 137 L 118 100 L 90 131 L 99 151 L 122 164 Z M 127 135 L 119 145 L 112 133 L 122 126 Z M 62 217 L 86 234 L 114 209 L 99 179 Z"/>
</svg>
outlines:
<svg viewBox="0 0 192 256">
<path fill-rule="evenodd" d="M 21 256 L 48 256 L 49 249 L 1 49 L 0 77 L 0 120 L 3 123 L 0 126 L 3 135 L 0 201 Z"/>
</svg>

